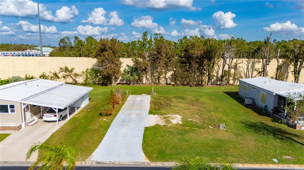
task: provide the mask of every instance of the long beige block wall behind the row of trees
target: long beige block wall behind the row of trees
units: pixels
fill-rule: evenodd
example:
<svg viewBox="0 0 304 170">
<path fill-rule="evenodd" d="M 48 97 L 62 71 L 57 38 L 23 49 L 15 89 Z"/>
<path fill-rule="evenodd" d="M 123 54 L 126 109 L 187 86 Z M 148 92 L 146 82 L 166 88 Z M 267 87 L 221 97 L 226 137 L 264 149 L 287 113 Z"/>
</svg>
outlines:
<svg viewBox="0 0 304 170">
<path fill-rule="evenodd" d="M 123 70 L 127 64 L 132 65 L 132 58 L 120 58 L 122 61 L 121 70 Z M 235 59 L 234 62 L 243 61 L 239 64 L 241 67 L 241 72 L 244 78 L 258 77 L 256 69 L 261 69 L 260 59 Z M 280 60 L 280 63 L 282 60 Z M 11 76 L 21 76 L 24 77 L 25 74 L 33 75 L 34 77 L 39 77 L 42 72 L 49 71 L 59 71 L 59 67 L 64 67 L 65 65 L 69 68 L 75 67 L 77 73 L 81 73 L 82 70 L 95 66 L 96 59 L 90 57 L 0 57 L 0 78 L 7 79 Z M 219 60 L 216 66 L 215 75 L 216 78 L 213 83 L 216 83 L 221 74 L 222 60 Z M 268 77 L 275 76 L 275 70 L 277 67 L 277 61 L 274 59 L 268 65 Z M 226 66 L 227 69 L 227 66 Z M 294 78 L 292 75 L 292 66 L 290 65 L 287 70 L 287 64 L 283 68 L 285 73 L 284 79 L 293 82 Z M 150 75 L 149 75 L 150 76 Z M 167 77 L 170 73 L 167 74 Z M 65 82 L 66 80 L 59 80 Z M 69 81 L 69 80 L 67 80 Z M 82 78 L 79 79 L 82 81 Z M 304 73 L 302 71 L 300 76 L 300 83 L 304 83 Z"/>
</svg>

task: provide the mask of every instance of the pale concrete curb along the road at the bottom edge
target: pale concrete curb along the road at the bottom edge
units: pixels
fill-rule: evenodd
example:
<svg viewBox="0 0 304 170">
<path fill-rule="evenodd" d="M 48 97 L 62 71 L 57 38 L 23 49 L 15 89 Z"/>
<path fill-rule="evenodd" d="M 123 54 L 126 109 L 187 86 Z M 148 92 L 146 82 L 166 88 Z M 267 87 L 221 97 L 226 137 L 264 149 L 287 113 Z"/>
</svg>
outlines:
<svg viewBox="0 0 304 170">
<path fill-rule="evenodd" d="M 29 166 L 33 162 L 0 162 L 1 166 Z M 76 162 L 76 166 L 116 166 L 116 167 L 173 167 L 174 162 Z M 236 164 L 239 169 L 297 169 L 304 170 L 304 165 L 277 164 Z"/>
</svg>

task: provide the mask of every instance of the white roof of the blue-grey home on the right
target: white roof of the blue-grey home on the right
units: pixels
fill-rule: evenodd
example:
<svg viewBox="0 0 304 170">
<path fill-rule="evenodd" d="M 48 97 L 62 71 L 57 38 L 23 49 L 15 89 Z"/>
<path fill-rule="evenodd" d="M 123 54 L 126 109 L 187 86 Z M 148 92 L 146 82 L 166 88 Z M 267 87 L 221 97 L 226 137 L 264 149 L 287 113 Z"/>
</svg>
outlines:
<svg viewBox="0 0 304 170">
<path fill-rule="evenodd" d="M 304 94 L 304 84 L 291 83 L 286 81 L 274 80 L 267 77 L 254 77 L 247 79 L 240 79 L 240 82 L 250 84 L 261 90 L 268 91 L 273 95 L 288 97 L 288 93 L 302 93 Z"/>
</svg>

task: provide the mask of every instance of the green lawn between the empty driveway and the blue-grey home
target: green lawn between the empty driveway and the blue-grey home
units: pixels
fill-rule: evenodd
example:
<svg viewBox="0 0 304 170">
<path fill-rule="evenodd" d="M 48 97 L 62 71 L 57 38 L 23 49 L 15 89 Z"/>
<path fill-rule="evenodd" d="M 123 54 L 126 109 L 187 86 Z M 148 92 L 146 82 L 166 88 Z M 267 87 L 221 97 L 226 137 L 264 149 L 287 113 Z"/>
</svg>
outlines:
<svg viewBox="0 0 304 170">
<path fill-rule="evenodd" d="M 279 150 L 280 164 L 304 164 L 304 132 L 278 123 L 254 106 L 243 106 L 238 87 L 154 89 L 157 95 L 151 98 L 149 114 L 178 114 L 183 124 L 145 128 L 143 151 L 151 162 L 195 155 L 214 162 L 274 164 Z M 228 130 L 220 130 L 220 123 Z"/>
</svg>

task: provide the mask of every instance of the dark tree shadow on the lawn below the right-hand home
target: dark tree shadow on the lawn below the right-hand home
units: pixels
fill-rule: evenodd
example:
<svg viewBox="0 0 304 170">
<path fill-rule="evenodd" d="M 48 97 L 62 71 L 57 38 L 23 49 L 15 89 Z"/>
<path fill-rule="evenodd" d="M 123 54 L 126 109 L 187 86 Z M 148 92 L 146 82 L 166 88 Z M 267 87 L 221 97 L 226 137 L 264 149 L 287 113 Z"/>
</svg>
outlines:
<svg viewBox="0 0 304 170">
<path fill-rule="evenodd" d="M 244 128 L 249 132 L 254 132 L 259 135 L 273 136 L 275 139 L 279 140 L 289 140 L 296 142 L 302 146 L 304 143 L 295 140 L 294 138 L 300 138 L 299 135 L 287 132 L 285 129 L 268 125 L 264 122 L 253 122 L 250 120 L 240 121 L 244 125 Z"/>
</svg>

